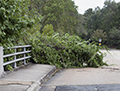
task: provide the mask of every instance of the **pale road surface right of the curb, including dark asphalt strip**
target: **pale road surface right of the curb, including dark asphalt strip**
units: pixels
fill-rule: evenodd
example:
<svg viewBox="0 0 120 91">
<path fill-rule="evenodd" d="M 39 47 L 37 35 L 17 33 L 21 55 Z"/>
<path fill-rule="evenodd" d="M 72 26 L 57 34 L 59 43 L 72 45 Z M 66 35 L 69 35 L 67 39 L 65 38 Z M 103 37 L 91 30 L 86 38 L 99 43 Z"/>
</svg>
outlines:
<svg viewBox="0 0 120 91">
<path fill-rule="evenodd" d="M 120 50 L 101 51 L 110 66 L 60 70 L 39 91 L 120 91 Z"/>
</svg>

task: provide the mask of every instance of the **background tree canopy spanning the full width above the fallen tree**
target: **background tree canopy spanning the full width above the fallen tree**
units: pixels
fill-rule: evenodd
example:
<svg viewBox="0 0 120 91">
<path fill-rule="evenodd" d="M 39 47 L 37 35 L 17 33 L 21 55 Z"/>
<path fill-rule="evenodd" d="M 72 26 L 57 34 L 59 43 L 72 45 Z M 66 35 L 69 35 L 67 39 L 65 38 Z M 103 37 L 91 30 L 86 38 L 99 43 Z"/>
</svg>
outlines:
<svg viewBox="0 0 120 91">
<path fill-rule="evenodd" d="M 106 0 L 103 8 L 87 9 L 83 15 L 78 13 L 73 0 L 0 0 L 0 40 L 27 30 L 36 22 L 41 33 L 52 29 L 85 40 L 91 39 L 94 31 L 102 30 L 107 35 L 105 44 L 110 44 L 113 38 L 109 35 L 120 31 L 119 15 L 120 3 L 112 0 Z M 42 19 L 36 19 L 39 16 Z"/>
</svg>

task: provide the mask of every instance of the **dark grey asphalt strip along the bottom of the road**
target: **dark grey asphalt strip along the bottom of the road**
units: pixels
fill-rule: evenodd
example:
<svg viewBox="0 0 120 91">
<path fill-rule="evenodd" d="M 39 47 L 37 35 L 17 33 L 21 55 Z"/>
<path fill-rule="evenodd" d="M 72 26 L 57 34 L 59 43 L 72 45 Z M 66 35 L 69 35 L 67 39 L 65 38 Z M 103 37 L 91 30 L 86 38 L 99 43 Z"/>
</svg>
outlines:
<svg viewBox="0 0 120 91">
<path fill-rule="evenodd" d="M 57 86 L 55 91 L 120 91 L 120 84 Z"/>
</svg>

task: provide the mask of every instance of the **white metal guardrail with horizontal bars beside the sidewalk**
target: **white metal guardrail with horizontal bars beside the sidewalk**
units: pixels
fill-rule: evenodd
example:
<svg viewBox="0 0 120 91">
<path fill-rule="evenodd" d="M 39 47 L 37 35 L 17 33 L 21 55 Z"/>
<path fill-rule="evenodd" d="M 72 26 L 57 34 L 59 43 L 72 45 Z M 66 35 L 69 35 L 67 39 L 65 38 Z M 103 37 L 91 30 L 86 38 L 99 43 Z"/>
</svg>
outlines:
<svg viewBox="0 0 120 91">
<path fill-rule="evenodd" d="M 31 50 L 26 50 L 26 48 L 30 48 L 30 47 L 31 45 L 8 47 L 7 49 L 14 49 L 15 52 L 12 54 L 3 55 L 4 50 L 7 50 L 7 49 L 4 49 L 2 46 L 0 46 L 0 76 L 2 76 L 2 74 L 4 73 L 4 66 L 6 65 L 14 63 L 14 68 L 17 68 L 17 62 L 22 61 L 22 60 L 23 60 L 24 65 L 27 65 L 26 59 L 31 58 L 31 56 L 27 56 L 26 54 L 31 53 Z M 23 51 L 17 52 L 17 49 L 19 48 L 22 48 Z M 22 58 L 17 59 L 16 56 L 20 54 L 23 54 L 24 56 Z M 4 58 L 11 57 L 11 56 L 14 56 L 14 60 L 11 60 L 11 61 L 8 60 L 7 62 L 4 62 Z"/>
</svg>

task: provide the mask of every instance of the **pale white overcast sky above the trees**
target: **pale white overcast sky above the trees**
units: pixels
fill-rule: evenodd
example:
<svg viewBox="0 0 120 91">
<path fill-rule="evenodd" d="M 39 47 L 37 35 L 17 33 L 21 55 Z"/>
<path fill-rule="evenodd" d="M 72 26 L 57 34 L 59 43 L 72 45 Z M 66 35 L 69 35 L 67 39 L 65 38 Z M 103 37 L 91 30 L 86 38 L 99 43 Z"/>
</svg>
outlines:
<svg viewBox="0 0 120 91">
<path fill-rule="evenodd" d="M 84 14 L 84 12 L 89 8 L 93 8 L 93 10 L 97 6 L 99 6 L 100 8 L 103 8 L 104 2 L 106 0 L 73 0 L 73 1 L 75 1 L 75 5 L 78 6 L 78 12 L 80 14 Z M 120 2 L 120 0 L 114 0 L 114 1 Z"/>
</svg>

